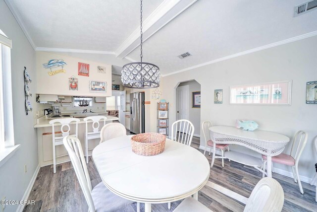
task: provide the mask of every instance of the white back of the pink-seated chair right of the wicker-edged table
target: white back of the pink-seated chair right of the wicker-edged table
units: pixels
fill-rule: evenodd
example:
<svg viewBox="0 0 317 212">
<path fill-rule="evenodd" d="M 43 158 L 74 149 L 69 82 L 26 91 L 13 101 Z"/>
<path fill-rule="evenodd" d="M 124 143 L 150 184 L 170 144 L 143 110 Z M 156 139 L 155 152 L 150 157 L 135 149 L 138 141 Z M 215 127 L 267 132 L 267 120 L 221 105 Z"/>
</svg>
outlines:
<svg viewBox="0 0 317 212">
<path fill-rule="evenodd" d="M 307 133 L 303 131 L 298 131 L 294 137 L 292 148 L 291 148 L 291 156 L 295 159 L 295 162 L 298 163 L 299 158 L 305 148 L 307 143 Z"/>
</svg>

